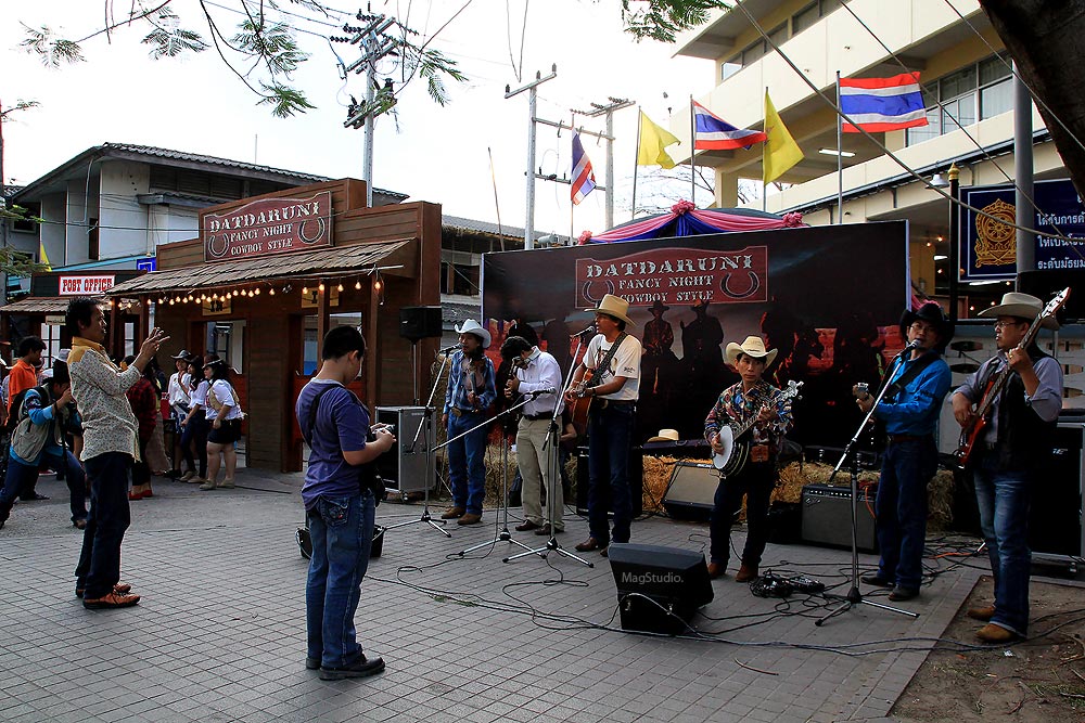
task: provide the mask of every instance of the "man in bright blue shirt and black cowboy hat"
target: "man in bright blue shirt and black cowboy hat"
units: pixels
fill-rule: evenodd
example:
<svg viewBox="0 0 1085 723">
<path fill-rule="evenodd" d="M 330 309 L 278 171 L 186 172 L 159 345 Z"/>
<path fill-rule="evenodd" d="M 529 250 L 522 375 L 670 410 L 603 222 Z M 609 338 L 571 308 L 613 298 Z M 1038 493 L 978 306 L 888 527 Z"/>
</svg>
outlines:
<svg viewBox="0 0 1085 723">
<path fill-rule="evenodd" d="M 942 400 L 949 391 L 952 374 L 942 359 L 953 323 L 942 307 L 929 301 L 918 311 L 901 317 L 901 335 L 908 346 L 891 366 L 889 384 L 875 417 L 885 424 L 889 437 L 882 455 L 881 478 L 875 500 L 876 532 L 881 559 L 878 571 L 863 582 L 891 588 L 891 601 L 919 595 L 923 577 L 923 544 L 927 538 L 927 485 L 939 467 L 934 439 Z M 859 393 L 856 402 L 866 414 L 875 397 Z"/>
</svg>

